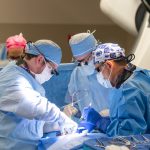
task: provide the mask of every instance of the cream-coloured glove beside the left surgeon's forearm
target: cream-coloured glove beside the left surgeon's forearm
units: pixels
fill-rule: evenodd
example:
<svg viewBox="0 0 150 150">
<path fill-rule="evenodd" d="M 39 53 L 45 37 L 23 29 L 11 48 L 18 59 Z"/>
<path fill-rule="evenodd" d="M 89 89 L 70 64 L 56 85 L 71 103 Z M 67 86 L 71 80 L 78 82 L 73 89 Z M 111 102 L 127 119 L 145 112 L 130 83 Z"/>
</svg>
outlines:
<svg viewBox="0 0 150 150">
<path fill-rule="evenodd" d="M 66 105 L 66 106 L 65 106 L 63 112 L 64 112 L 68 117 L 71 118 L 71 116 L 75 115 L 75 114 L 78 112 L 78 110 L 77 110 L 74 106 L 72 106 L 71 104 L 69 104 L 69 105 Z"/>
</svg>

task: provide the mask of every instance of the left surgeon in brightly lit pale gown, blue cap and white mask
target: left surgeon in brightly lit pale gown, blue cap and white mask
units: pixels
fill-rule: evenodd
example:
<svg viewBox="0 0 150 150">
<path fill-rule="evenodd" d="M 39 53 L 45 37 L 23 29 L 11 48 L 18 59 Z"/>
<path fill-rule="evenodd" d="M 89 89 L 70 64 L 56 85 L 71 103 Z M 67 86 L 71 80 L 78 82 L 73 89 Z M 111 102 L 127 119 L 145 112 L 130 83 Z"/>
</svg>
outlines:
<svg viewBox="0 0 150 150">
<path fill-rule="evenodd" d="M 23 64 L 12 61 L 0 71 L 1 149 L 36 150 L 44 133 L 76 131 L 76 123 L 47 100 L 41 86 L 56 72 L 61 56 L 56 43 L 39 40 L 28 43 Z"/>
</svg>

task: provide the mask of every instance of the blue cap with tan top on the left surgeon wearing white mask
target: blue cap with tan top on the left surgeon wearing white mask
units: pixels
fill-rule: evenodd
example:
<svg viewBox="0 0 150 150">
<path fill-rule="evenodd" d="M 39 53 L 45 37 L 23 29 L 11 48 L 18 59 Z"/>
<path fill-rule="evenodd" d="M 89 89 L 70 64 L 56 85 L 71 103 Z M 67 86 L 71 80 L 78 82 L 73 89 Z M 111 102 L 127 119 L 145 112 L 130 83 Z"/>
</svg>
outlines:
<svg viewBox="0 0 150 150">
<path fill-rule="evenodd" d="M 26 53 L 42 54 L 46 60 L 59 65 L 62 58 L 61 48 L 51 40 L 38 40 L 35 43 L 28 43 Z"/>
</svg>

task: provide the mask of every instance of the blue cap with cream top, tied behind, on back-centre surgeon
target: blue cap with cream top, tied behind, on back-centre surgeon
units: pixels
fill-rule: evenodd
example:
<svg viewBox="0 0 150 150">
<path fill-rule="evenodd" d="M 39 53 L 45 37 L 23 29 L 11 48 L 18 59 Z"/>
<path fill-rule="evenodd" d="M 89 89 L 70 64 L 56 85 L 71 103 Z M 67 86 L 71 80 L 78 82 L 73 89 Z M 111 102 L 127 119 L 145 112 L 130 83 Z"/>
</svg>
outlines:
<svg viewBox="0 0 150 150">
<path fill-rule="evenodd" d="M 92 33 L 79 33 L 71 37 L 69 45 L 74 57 L 83 56 L 92 52 L 97 44 L 97 40 Z"/>
</svg>

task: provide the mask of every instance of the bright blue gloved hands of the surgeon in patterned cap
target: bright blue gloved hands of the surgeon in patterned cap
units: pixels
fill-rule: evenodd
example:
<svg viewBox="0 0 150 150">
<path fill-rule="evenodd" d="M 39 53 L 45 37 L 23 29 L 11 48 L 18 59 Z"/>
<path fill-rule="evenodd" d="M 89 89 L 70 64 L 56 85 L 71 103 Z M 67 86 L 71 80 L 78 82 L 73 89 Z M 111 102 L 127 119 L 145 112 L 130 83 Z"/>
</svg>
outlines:
<svg viewBox="0 0 150 150">
<path fill-rule="evenodd" d="M 91 132 L 93 129 L 97 128 L 102 132 L 106 132 L 107 126 L 110 124 L 109 117 L 102 117 L 97 111 L 95 111 L 92 107 L 86 107 L 83 110 L 82 118 L 84 121 L 81 121 L 78 129 L 84 127 Z M 78 130 L 78 132 L 80 132 Z"/>
</svg>

